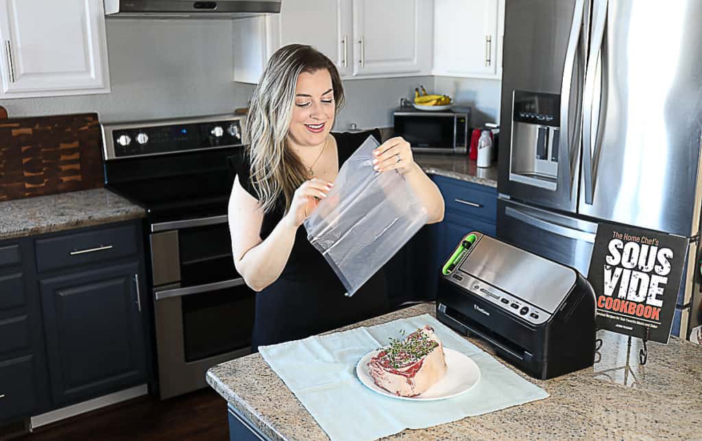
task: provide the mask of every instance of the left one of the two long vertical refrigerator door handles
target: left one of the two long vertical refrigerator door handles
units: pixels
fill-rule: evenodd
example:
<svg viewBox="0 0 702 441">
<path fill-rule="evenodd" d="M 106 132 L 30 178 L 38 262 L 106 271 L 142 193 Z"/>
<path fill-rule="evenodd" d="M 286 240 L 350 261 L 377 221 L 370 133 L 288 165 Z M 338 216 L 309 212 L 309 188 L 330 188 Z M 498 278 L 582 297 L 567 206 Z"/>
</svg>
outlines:
<svg viewBox="0 0 702 441">
<path fill-rule="evenodd" d="M 575 9 L 573 11 L 573 21 L 568 37 L 568 46 L 566 48 L 566 59 L 563 67 L 563 79 L 561 83 L 561 114 L 560 114 L 560 138 L 559 138 L 559 157 L 563 158 L 566 169 L 569 172 L 569 194 L 572 194 L 573 180 L 575 176 L 575 159 L 578 152 L 574 151 L 574 147 L 578 147 L 577 137 L 570 133 L 570 102 L 571 102 L 571 85 L 573 81 L 573 71 L 575 69 L 576 53 L 578 46 L 581 44 L 583 15 L 585 14 L 585 0 L 576 0 Z M 582 64 L 582 63 L 581 63 Z M 578 97 L 579 98 L 579 97 Z M 580 106 L 578 106 L 579 108 Z M 576 118 L 575 134 L 580 131 L 580 118 Z"/>
</svg>

